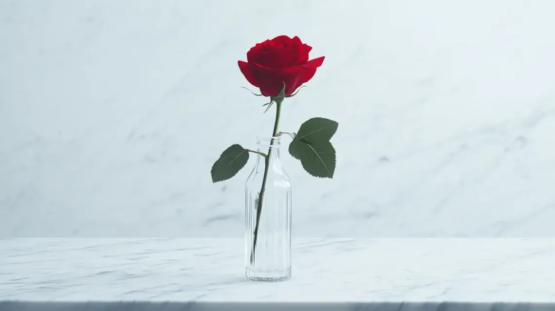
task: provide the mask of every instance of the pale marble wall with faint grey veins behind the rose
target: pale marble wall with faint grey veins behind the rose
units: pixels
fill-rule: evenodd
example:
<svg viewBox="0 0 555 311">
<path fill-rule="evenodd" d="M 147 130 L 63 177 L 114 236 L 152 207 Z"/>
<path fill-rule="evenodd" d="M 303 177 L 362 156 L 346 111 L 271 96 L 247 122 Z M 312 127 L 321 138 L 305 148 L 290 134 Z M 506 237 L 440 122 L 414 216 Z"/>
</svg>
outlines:
<svg viewBox="0 0 555 311">
<path fill-rule="evenodd" d="M 254 159 L 209 172 L 280 34 L 326 56 L 280 129 L 340 124 L 333 180 L 282 154 L 294 236 L 555 236 L 555 2 L 275 3 L 0 0 L 0 236 L 243 236 Z"/>
</svg>

